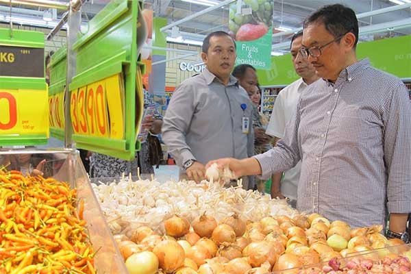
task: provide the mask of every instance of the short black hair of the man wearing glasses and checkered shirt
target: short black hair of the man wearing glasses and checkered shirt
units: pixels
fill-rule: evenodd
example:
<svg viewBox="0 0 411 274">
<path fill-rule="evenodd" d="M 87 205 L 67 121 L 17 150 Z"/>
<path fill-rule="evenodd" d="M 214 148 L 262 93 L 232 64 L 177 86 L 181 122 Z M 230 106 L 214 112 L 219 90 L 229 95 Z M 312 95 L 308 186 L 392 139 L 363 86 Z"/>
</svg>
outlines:
<svg viewBox="0 0 411 274">
<path fill-rule="evenodd" d="M 356 36 L 354 48 L 358 42 L 358 20 L 356 12 L 345 5 L 324 5 L 316 10 L 304 20 L 303 28 L 308 27 L 312 23 L 321 22 L 325 29 L 335 38 L 352 32 Z"/>
</svg>

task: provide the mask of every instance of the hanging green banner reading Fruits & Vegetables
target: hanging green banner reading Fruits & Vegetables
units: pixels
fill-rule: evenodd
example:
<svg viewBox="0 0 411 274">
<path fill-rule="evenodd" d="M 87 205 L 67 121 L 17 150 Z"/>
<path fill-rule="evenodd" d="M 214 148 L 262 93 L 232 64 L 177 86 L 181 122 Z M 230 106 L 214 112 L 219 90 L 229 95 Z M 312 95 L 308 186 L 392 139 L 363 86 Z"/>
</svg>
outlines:
<svg viewBox="0 0 411 274">
<path fill-rule="evenodd" d="M 243 0 L 229 6 L 229 35 L 236 41 L 236 64 L 271 69 L 273 0 Z"/>
</svg>

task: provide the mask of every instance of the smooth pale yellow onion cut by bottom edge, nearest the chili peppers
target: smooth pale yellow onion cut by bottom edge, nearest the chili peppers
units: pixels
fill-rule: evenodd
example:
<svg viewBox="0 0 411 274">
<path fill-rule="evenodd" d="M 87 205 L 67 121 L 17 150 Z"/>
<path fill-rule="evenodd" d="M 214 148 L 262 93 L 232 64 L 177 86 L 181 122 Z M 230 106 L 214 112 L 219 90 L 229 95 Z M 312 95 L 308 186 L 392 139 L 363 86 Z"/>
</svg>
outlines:
<svg viewBox="0 0 411 274">
<path fill-rule="evenodd" d="M 125 261 L 129 274 L 154 274 L 158 270 L 158 258 L 150 251 L 134 253 Z"/>
</svg>

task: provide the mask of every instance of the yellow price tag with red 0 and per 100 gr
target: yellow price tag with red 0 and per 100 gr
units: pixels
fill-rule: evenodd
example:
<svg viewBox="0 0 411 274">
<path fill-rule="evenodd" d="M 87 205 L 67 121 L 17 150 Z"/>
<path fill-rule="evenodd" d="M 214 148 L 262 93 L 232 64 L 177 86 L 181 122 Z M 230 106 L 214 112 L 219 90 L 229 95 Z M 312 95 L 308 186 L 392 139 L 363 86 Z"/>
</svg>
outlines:
<svg viewBox="0 0 411 274">
<path fill-rule="evenodd" d="M 0 89 L 0 134 L 49 136 L 47 90 Z"/>
</svg>

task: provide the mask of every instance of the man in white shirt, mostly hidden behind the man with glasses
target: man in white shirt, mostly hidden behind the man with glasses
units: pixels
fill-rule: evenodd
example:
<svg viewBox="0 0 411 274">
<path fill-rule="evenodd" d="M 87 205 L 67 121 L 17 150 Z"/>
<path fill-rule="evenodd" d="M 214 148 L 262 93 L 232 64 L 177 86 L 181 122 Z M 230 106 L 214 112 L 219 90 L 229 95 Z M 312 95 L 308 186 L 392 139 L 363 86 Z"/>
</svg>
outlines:
<svg viewBox="0 0 411 274">
<path fill-rule="evenodd" d="M 292 64 L 294 65 L 295 72 L 301 76 L 301 78 L 292 82 L 279 92 L 278 97 L 275 99 L 270 123 L 266 129 L 266 134 L 275 137 L 275 144 L 279 139 L 284 137 L 284 129 L 297 107 L 301 92 L 303 92 L 309 84 L 312 84 L 319 79 L 315 73 L 314 66 L 312 66 L 312 64 L 299 53 L 301 40 L 303 40 L 302 30 L 292 36 L 291 39 Z M 295 167 L 288 169 L 288 171 L 284 173 L 282 182 L 282 173 L 274 174 L 271 177 L 271 197 L 279 197 L 282 199 L 288 197 L 290 199 L 290 205 L 295 208 L 297 203 L 297 185 L 299 182 L 300 170 L 301 161 L 298 162 Z"/>
</svg>

